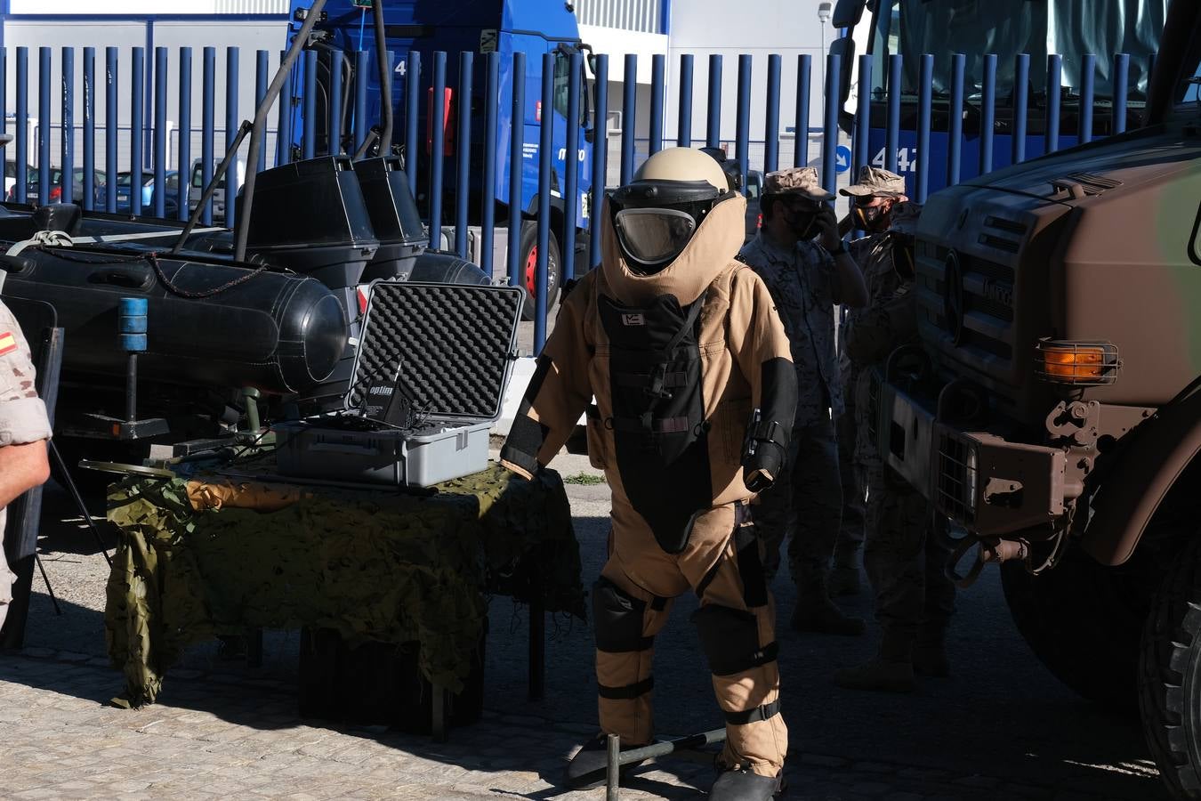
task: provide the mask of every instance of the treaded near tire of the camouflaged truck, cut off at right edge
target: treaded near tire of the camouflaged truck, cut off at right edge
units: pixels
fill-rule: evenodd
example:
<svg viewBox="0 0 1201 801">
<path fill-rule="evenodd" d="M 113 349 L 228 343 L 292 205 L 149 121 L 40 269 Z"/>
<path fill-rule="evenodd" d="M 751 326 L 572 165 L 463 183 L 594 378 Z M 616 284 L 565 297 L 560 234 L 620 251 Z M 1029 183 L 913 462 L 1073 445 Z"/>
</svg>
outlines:
<svg viewBox="0 0 1201 801">
<path fill-rule="evenodd" d="M 1201 542 L 1172 561 L 1142 630 L 1139 707 L 1147 747 L 1177 799 L 1201 799 Z"/>
</svg>

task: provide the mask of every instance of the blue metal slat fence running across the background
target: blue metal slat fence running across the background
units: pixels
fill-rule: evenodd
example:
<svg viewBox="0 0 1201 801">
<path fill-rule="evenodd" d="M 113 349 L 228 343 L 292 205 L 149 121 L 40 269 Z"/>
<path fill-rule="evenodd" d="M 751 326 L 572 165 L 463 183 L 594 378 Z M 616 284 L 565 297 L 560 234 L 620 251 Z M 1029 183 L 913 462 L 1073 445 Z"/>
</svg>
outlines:
<svg viewBox="0 0 1201 801">
<path fill-rule="evenodd" d="M 189 189 L 191 186 L 190 171 L 191 161 L 196 155 L 196 139 L 199 139 L 199 162 L 202 165 L 202 181 L 207 184 L 211 178 L 214 165 L 220 161 L 217 151 L 216 135 L 222 131 L 223 139 L 231 141 L 239 126 L 238 115 L 238 74 L 239 70 L 252 66 L 256 70 L 256 97 L 262 97 L 268 83 L 268 70 L 273 54 L 267 50 L 257 50 L 253 59 L 244 60 L 238 48 L 226 48 L 219 53 L 216 48 L 205 47 L 199 53 L 193 48 L 180 48 L 175 53 L 166 48 L 157 48 L 151 54 L 151 64 L 148 65 L 147 53 L 143 48 L 133 48 L 125 62 L 119 60 L 116 48 L 106 48 L 97 53 L 96 48 L 62 48 L 59 53 L 59 70 L 61 74 L 60 91 L 54 96 L 50 82 L 52 61 L 54 52 L 50 48 L 40 48 L 30 53 L 28 48 L 16 48 L 13 52 L 0 53 L 0 106 L 6 112 L 11 107 L 14 112 L 12 118 L 6 113 L 4 127 L 13 128 L 16 142 L 5 154 L 6 159 L 14 162 L 13 197 L 18 202 L 24 202 L 29 196 L 30 174 L 29 165 L 36 162 L 38 169 L 34 181 L 38 198 L 44 201 L 50 197 L 50 171 L 46 167 L 54 165 L 62 168 L 62 178 L 58 190 L 62 201 L 78 201 L 86 209 L 106 209 L 114 211 L 118 209 L 118 192 L 113 174 L 119 169 L 130 168 L 135 174 L 141 174 L 143 167 L 148 167 L 154 173 L 154 191 L 151 208 L 144 209 L 138 187 L 131 186 L 129 211 L 137 215 L 143 211 L 163 216 L 167 209 L 166 173 L 174 165 L 180 169 L 179 187 L 175 190 L 175 213 L 179 219 L 186 219 L 189 214 Z M 201 83 L 201 108 L 193 108 L 192 83 L 193 83 L 193 59 L 199 61 L 198 78 Z M 328 94 L 328 118 L 330 121 L 340 122 L 345 104 L 353 108 L 353 125 L 348 136 L 343 139 L 340 136 L 325 137 L 325 150 L 330 148 L 335 154 L 353 153 L 368 138 L 370 125 L 368 120 L 368 78 L 374 74 L 372 65 L 366 53 L 355 53 L 355 73 L 353 82 L 341 89 L 341 65 L 335 61 L 334 79 L 330 82 Z M 29 67 L 30 59 L 37 59 L 40 66 L 40 79 L 36 86 L 30 86 Z M 537 301 L 536 319 L 536 343 L 540 348 L 545 334 L 546 319 L 546 270 L 550 237 L 554 235 L 560 245 L 561 253 L 561 277 L 570 279 L 575 273 L 575 247 L 578 235 L 576 208 L 574 202 L 563 203 L 561 216 L 556 215 L 554 229 L 551 228 L 550 203 L 556 192 L 562 197 L 574 198 L 578 186 L 591 181 L 593 187 L 592 198 L 588 207 L 592 214 L 587 221 L 587 233 L 590 245 L 586 251 L 586 264 L 596 265 L 600 261 L 600 214 L 602 195 L 604 186 L 628 181 L 638 165 L 651 154 L 663 147 L 676 144 L 681 147 L 695 147 L 700 141 L 694 141 L 693 131 L 704 130 L 704 144 L 707 147 L 722 147 L 725 141 L 722 137 L 722 74 L 727 67 L 722 55 L 709 55 L 704 80 L 706 90 L 705 108 L 694 108 L 694 88 L 699 80 L 695 76 L 695 59 L 691 54 L 680 58 L 674 65 L 673 86 L 675 91 L 677 108 L 675 118 L 677 128 L 675 132 L 665 128 L 665 107 L 668 104 L 669 86 L 667 84 L 667 58 L 655 55 L 651 64 L 651 85 L 649 90 L 649 104 L 640 106 L 639 86 L 634 80 L 626 82 L 621 91 L 621 130 L 620 133 L 610 136 L 608 125 L 604 124 L 605 114 L 596 115 L 602 120 L 591 131 L 588 143 L 580 141 L 580 131 L 576 126 L 567 125 L 566 153 L 576 153 L 576 148 L 585 147 L 591 150 L 586 166 L 580 162 L 575 169 L 567 169 L 563 175 L 562 186 L 552 186 L 552 181 L 558 180 L 552 171 L 552 159 L 555 154 L 550 143 L 554 142 L 552 126 L 556 114 L 540 114 L 538 127 L 538 143 L 526 142 L 527 120 L 537 118 L 534 113 L 536 103 L 539 108 L 555 108 L 555 72 L 556 54 L 543 55 L 540 64 L 542 85 L 540 91 L 527 91 L 525 76 L 527 67 L 526 56 L 516 53 L 512 61 L 504 64 L 503 72 L 506 80 L 502 80 L 502 56 L 498 53 L 488 53 L 483 56 L 464 53 L 459 55 L 460 80 L 453 88 L 453 95 L 459 98 L 470 97 L 472 103 L 459 103 L 460 108 L 476 107 L 483 109 L 479 119 L 473 119 L 470 114 L 461 114 L 452 118 L 456 126 L 454 141 L 456 143 L 486 142 L 486 147 L 472 150 L 471 148 L 456 148 L 454 154 L 443 150 L 443 120 L 447 119 L 447 96 L 443 91 L 447 88 L 447 53 L 417 53 L 407 54 L 405 71 L 405 108 L 398 108 L 398 139 L 402 139 L 402 153 L 406 159 L 406 173 L 410 187 L 414 196 L 424 196 L 430 226 L 431 241 L 441 243 L 441 228 L 446 225 L 454 225 L 453 247 L 464 257 L 471 252 L 468 241 L 468 229 L 473 221 L 479 223 L 478 255 L 480 267 L 492 271 L 494 240 L 495 240 L 495 214 L 497 203 L 506 203 L 510 198 L 520 198 L 522 192 L 522 171 L 510 169 L 508 172 L 507 195 L 504 197 L 492 197 L 491 189 L 485 189 L 474 201 L 471 196 L 471 187 L 474 177 L 483 177 L 484 187 L 495 187 L 497 177 L 504 175 L 507 165 L 524 165 L 528 161 L 532 151 L 533 161 L 537 165 L 538 185 L 538 209 L 532 217 L 537 223 L 537 265 L 534 270 L 534 294 Z M 1059 89 L 1059 73 L 1062 60 L 1058 55 L 1047 59 L 1046 65 L 1033 65 L 1029 56 L 1016 56 L 1016 74 L 1018 82 L 1012 88 L 998 88 L 996 85 L 996 56 L 986 59 L 984 91 L 979 101 L 973 101 L 973 113 L 966 115 L 968 101 L 963 91 L 963 64 L 962 54 L 945 54 L 939 58 L 950 59 L 952 66 L 952 86 L 948 97 L 933 97 L 931 90 L 931 76 L 934 56 L 925 55 L 920 60 L 919 83 L 915 91 L 902 95 L 901 91 L 901 60 L 892 56 L 888 61 L 886 91 L 870 97 L 867 92 L 858 96 L 854 118 L 843 116 L 842 122 L 850 124 L 853 132 L 852 148 L 849 153 L 842 153 L 838 145 L 839 114 L 842 101 L 836 76 L 841 74 L 841 62 L 838 55 L 826 56 L 825 86 L 820 92 L 811 89 L 811 77 L 813 72 L 812 58 L 807 54 L 799 55 L 794 64 L 787 65 L 789 70 L 795 70 L 796 94 L 787 98 L 791 106 L 791 115 L 782 107 L 781 86 L 782 73 L 785 64 L 779 55 L 766 58 L 766 68 L 760 73 L 753 72 L 754 61 L 751 55 L 740 55 L 733 66 L 736 70 L 736 106 L 735 106 L 735 136 L 733 137 L 733 157 L 737 160 L 743 171 L 759 168 L 773 171 L 782 166 L 815 165 L 823 185 L 835 191 L 839 174 L 854 175 L 859 167 L 866 163 L 876 163 L 895 172 L 902 172 L 910 181 L 910 195 L 919 202 L 924 202 L 932 189 L 942 185 L 955 184 L 964 177 L 972 174 L 987 173 L 991 169 L 1010 163 L 1020 162 L 1028 157 L 1051 153 L 1060 147 L 1087 142 L 1098 131 L 1103 135 L 1119 133 L 1127 127 L 1128 103 L 1127 80 L 1131 65 L 1128 56 L 1118 54 L 1113 56 L 1113 68 L 1117 76 L 1118 89 L 1111 102 L 1105 104 L 1105 120 L 1094 120 L 1092 80 L 1087 78 L 1089 68 L 1095 67 L 1095 60 L 1089 56 L 1085 62 L 1086 79 L 1078 92 L 1068 100 L 1068 104 L 1075 109 L 1074 116 L 1063 118 L 1066 109 L 1065 98 Z M 74 64 L 82 61 L 82 84 L 76 85 Z M 98 61 L 98 64 L 97 64 Z M 250 62 L 247 65 L 247 61 Z M 591 91 L 594 92 L 591 102 L 592 109 L 609 108 L 609 65 L 610 56 L 598 55 L 594 64 L 596 79 L 592 82 Z M 625 74 L 637 74 L 638 56 L 625 56 Z M 860 56 L 859 83 L 862 86 L 871 86 L 872 72 L 871 56 Z M 153 67 L 153 68 L 150 68 Z M 220 70 L 223 68 L 223 72 Z M 1024 76 L 1030 70 L 1045 68 L 1047 71 L 1047 86 L 1050 91 L 1045 97 L 1040 97 L 1034 108 L 1032 98 L 1027 92 Z M 13 97 L 5 97 L 7 86 L 7 71 L 14 71 Z M 578 119 L 578 112 L 582 97 L 580 96 L 582 60 L 579 54 L 574 54 L 569 60 L 569 76 L 567 80 L 567 110 L 568 119 Z M 172 77 L 174 76 L 174 77 Z M 219 78 L 225 84 L 225 96 L 217 96 Z M 312 157 L 323 155 L 318 147 L 317 113 L 313 98 L 317 96 L 317 53 L 309 50 L 297 64 L 292 74 L 292 90 L 288 95 L 304 97 L 304 124 L 293 136 L 291 114 L 295 110 L 292 97 L 283 97 L 276 109 L 279 128 L 283 135 L 277 137 L 274 151 L 264 153 L 257 165 L 241 167 L 243 169 L 264 169 L 268 166 L 277 166 L 288 162 L 295 156 Z M 757 80 L 761 80 L 765 91 L 760 95 L 765 100 L 752 106 L 752 91 Z M 507 84 L 507 85 L 504 85 Z M 297 91 L 304 88 L 303 92 Z M 149 91 L 147 91 L 149 89 Z M 36 98 L 36 109 L 30 107 L 30 92 Z M 179 119 L 167 118 L 168 97 L 175 94 Z M 103 95 L 103 118 L 97 116 L 97 98 Z M 814 96 L 817 95 L 817 96 Z M 431 103 L 432 114 L 430 122 L 432 130 L 422 131 L 419 114 L 424 112 L 420 98 L 428 97 Z M 501 109 L 502 97 L 509 103 L 509 121 L 502 127 Z M 998 98 L 1011 98 L 1011 102 L 1003 104 Z M 615 98 L 616 100 L 616 98 Z M 223 102 L 223 126 L 217 126 L 217 119 Z M 697 103 L 699 106 L 699 103 Z M 77 108 L 82 113 L 77 116 Z M 647 119 L 638 119 L 639 108 L 649 108 Z M 823 109 L 821 126 L 811 128 L 809 113 L 813 108 Z M 902 109 L 906 109 L 904 119 L 914 119 L 916 124 L 912 130 L 902 128 Z M 1110 110 L 1112 109 L 1112 110 Z M 52 119 L 52 112 L 58 110 L 58 121 Z M 1041 131 L 1035 136 L 1028 133 L 1027 120 L 1034 119 L 1033 110 L 1038 110 L 1038 120 Z M 782 113 L 783 112 L 783 113 Z M 645 112 L 644 112 L 645 113 Z M 761 115 L 761 116 L 760 116 Z M 1075 130 L 1062 132 L 1060 118 L 1074 120 Z M 694 128 L 694 122 L 703 119 L 704 124 Z M 761 119 L 764 131 L 761 139 L 752 141 L 752 121 Z M 973 128 L 964 130 L 964 120 L 973 120 Z M 31 122 L 34 120 L 35 122 Z M 880 121 L 883 120 L 883 125 Z M 940 122 L 936 124 L 936 120 Z M 978 122 L 976 122 L 978 120 Z M 198 125 L 197 125 L 198 122 Z M 560 122 L 561 124 L 561 122 Z M 483 125 L 483 136 L 473 137 L 473 126 Z M 791 132 L 782 131 L 788 127 Z M 340 125 L 330 125 L 330 130 L 341 130 Z M 796 132 L 803 132 L 797 136 Z M 56 136 L 55 136 L 56 132 Z M 109 133 L 113 136 L 109 136 Z M 404 132 L 400 135 L 400 132 Z M 428 137 L 430 144 L 423 141 L 420 133 Z M 673 136 L 674 133 L 674 136 Z M 478 135 L 478 132 L 477 132 Z M 497 153 L 497 142 L 503 142 L 502 136 L 508 137 L 509 151 L 506 156 Z M 55 145 L 56 147 L 53 147 Z M 610 153 L 610 145 L 613 150 Z M 556 147 L 562 147 L 556 143 Z M 503 161 L 502 161 L 503 159 Z M 902 162 L 903 160 L 903 162 Z M 55 163 L 56 162 L 56 163 Z M 572 160 L 567 160 L 572 162 Z M 67 177 L 73 175 L 74 168 L 83 168 L 82 197 L 74 197 L 78 192 L 73 180 Z M 610 167 L 615 167 L 610 171 Z M 239 167 L 237 161 L 231 163 L 226 175 L 226 186 L 238 186 Z M 104 172 L 109 180 L 102 192 L 97 192 L 94 173 Z M 844 175 L 843 180 L 847 179 Z M 477 187 L 479 183 L 474 184 Z M 420 191 L 424 190 L 424 191 Z M 232 202 L 226 204 L 226 225 L 233 225 L 234 208 Z M 204 210 L 204 222 L 211 223 L 211 207 Z M 508 226 L 508 258 L 507 275 L 513 285 L 526 282 L 525 265 L 520 262 L 520 226 Z"/>
</svg>

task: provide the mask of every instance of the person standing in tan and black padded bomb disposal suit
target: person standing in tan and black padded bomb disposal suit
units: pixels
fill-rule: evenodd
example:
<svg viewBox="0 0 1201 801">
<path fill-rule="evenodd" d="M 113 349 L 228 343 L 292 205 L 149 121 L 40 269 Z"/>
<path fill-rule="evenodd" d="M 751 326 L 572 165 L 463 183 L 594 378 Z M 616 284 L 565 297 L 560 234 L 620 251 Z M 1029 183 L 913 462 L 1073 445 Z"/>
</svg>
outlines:
<svg viewBox="0 0 1201 801">
<path fill-rule="evenodd" d="M 563 301 L 501 452 L 532 474 L 596 397 L 588 455 L 613 488 L 592 592 L 602 731 L 572 759 L 573 787 L 604 779 L 607 734 L 651 741 L 653 638 L 687 591 L 725 717 L 710 797 L 781 787 L 775 610 L 747 502 L 783 467 L 796 375 L 766 286 L 734 261 L 745 208 L 718 163 L 687 148 L 657 153 L 616 190 L 603 263 Z"/>
</svg>

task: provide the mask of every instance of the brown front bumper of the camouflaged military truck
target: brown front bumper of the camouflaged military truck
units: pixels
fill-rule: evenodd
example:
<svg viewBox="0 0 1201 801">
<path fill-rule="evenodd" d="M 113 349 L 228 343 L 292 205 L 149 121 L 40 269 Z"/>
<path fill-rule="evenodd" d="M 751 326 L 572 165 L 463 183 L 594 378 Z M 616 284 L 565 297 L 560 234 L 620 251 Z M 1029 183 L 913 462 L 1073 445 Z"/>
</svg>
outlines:
<svg viewBox="0 0 1201 801">
<path fill-rule="evenodd" d="M 940 423 L 919 399 L 873 381 L 884 464 L 968 531 L 1004 537 L 1064 514 L 1066 454 Z"/>
</svg>

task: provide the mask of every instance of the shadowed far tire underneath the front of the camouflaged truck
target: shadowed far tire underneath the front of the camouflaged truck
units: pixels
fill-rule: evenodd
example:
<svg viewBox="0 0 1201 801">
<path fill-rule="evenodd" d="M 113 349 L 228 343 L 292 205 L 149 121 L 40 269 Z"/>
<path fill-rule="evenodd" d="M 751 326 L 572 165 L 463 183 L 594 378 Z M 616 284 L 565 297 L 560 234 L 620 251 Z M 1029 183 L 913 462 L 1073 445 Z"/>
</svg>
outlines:
<svg viewBox="0 0 1201 801">
<path fill-rule="evenodd" d="M 1005 603 L 1022 639 L 1056 679 L 1092 701 L 1134 713 L 1139 644 L 1154 592 L 1148 560 L 1104 567 L 1070 544 L 1054 568 L 1002 566 Z"/>
</svg>

